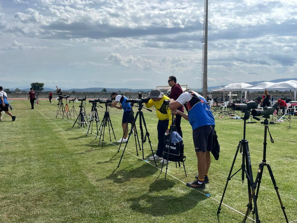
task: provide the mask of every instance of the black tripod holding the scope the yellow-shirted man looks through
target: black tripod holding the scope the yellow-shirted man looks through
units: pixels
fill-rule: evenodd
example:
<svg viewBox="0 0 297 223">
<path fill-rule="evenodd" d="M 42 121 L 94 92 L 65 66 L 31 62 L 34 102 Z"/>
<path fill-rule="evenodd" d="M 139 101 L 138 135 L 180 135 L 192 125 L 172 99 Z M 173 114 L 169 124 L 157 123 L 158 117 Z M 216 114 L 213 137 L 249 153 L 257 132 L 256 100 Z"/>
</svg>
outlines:
<svg viewBox="0 0 297 223">
<path fill-rule="evenodd" d="M 131 134 L 132 134 L 132 130 L 133 130 L 134 127 L 135 127 L 135 124 L 136 124 L 136 120 L 137 120 L 138 115 L 139 115 L 139 129 L 140 129 L 140 134 L 141 134 L 142 159 L 144 160 L 143 143 L 146 142 L 146 137 L 148 137 L 148 139 L 149 139 L 149 132 L 148 132 L 148 130 L 147 130 L 147 128 L 146 128 L 146 121 L 144 120 L 143 112 L 141 111 L 141 109 L 143 109 L 143 104 L 142 104 L 142 103 L 138 103 L 138 112 L 136 112 L 136 116 L 135 116 L 134 122 L 133 122 L 133 124 L 132 124 L 132 126 L 131 126 L 131 130 L 130 130 L 130 132 L 129 132 L 129 136 L 128 136 L 128 138 L 127 138 L 127 142 L 126 142 L 125 148 L 124 148 L 124 150 L 123 150 L 121 159 L 120 159 L 120 161 L 119 161 L 118 168 L 120 167 L 121 160 L 122 160 L 122 158 L 123 158 L 123 156 L 124 156 L 124 152 L 125 152 L 126 147 L 127 147 L 127 145 L 128 145 L 129 138 L 130 138 L 130 136 L 131 136 Z M 146 108 L 144 108 L 144 109 L 146 109 Z M 150 109 L 146 109 L 146 110 L 148 110 L 148 111 L 151 112 Z M 142 122 L 143 122 L 144 128 L 146 129 L 146 134 L 145 134 L 145 135 L 143 134 Z M 136 128 L 135 128 L 135 129 L 136 129 Z M 135 143 L 135 144 L 136 144 L 136 143 Z M 150 140 L 150 139 L 149 139 L 149 145 L 150 145 L 150 147 L 151 147 L 151 140 Z M 118 153 L 119 153 L 119 151 L 120 151 L 120 147 L 119 147 Z M 136 151 L 137 151 L 137 148 L 136 148 Z M 156 163 L 156 159 L 155 159 L 154 151 L 153 151 L 153 148 L 152 148 L 152 147 L 151 147 L 151 153 L 153 154 L 154 161 L 155 161 L 155 165 L 156 165 L 156 167 L 157 167 L 157 163 Z"/>
</svg>

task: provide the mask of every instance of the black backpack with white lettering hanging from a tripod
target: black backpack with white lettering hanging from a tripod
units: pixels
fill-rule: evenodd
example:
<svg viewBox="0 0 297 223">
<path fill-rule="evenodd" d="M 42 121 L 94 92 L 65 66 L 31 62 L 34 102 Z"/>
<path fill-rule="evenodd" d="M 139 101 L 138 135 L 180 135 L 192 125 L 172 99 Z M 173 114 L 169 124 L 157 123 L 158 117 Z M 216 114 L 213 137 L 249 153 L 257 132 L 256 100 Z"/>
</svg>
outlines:
<svg viewBox="0 0 297 223">
<path fill-rule="evenodd" d="M 168 156 L 169 153 L 169 156 Z M 173 143 L 170 142 L 170 133 L 166 136 L 165 147 L 163 150 L 163 159 L 168 159 L 173 162 L 184 162 L 186 157 L 184 156 L 184 143 L 183 141 Z"/>
</svg>

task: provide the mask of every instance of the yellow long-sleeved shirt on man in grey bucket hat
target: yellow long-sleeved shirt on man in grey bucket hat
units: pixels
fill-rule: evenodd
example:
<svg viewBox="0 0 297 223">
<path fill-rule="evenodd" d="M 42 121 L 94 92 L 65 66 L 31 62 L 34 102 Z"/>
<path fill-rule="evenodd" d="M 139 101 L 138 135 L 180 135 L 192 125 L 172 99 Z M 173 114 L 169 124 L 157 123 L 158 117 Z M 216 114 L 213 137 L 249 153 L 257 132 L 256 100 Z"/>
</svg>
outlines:
<svg viewBox="0 0 297 223">
<path fill-rule="evenodd" d="M 163 96 L 163 98 L 159 101 L 153 101 L 152 99 L 149 100 L 148 103 L 146 103 L 147 108 L 151 108 L 153 105 L 155 106 L 156 114 L 159 120 L 169 120 L 168 128 L 170 128 L 170 125 L 172 123 L 172 117 L 171 117 L 171 110 L 168 108 L 166 110 L 166 105 L 163 104 L 164 100 L 168 100 L 169 98 L 167 96 Z"/>
</svg>

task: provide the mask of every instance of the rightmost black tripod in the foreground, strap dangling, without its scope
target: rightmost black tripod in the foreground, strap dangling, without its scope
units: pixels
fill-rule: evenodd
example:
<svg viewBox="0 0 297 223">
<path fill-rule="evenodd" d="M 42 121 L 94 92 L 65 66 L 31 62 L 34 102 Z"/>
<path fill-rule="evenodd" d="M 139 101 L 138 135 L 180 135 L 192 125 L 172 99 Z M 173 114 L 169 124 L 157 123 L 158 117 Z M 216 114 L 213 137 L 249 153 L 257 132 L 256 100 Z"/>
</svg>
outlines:
<svg viewBox="0 0 297 223">
<path fill-rule="evenodd" d="M 274 189 L 275 189 L 275 191 L 276 191 L 276 193 L 277 193 L 277 197 L 278 197 L 278 199 L 279 199 L 280 206 L 281 206 L 282 211 L 283 211 L 283 213 L 284 213 L 286 222 L 288 223 L 289 221 L 288 221 L 288 218 L 287 218 L 287 215 L 286 215 L 286 212 L 285 212 L 285 206 L 282 204 L 282 199 L 281 199 L 280 196 L 279 196 L 278 186 L 277 186 L 277 184 L 276 184 L 276 182 L 275 182 L 275 179 L 274 179 L 274 176 L 273 176 L 273 173 L 272 173 L 270 164 L 266 162 L 266 145 L 267 145 L 266 139 L 267 139 L 267 130 L 268 130 L 268 132 L 269 132 L 269 128 L 268 128 L 268 118 L 270 118 L 270 116 L 267 115 L 267 116 L 263 116 L 263 117 L 265 118 L 265 120 L 264 120 L 265 130 L 264 130 L 264 142 L 263 142 L 263 145 L 264 145 L 264 147 L 263 147 L 263 160 L 262 160 L 262 162 L 261 162 L 260 165 L 259 165 L 259 169 L 258 169 L 257 177 L 256 177 L 256 179 L 255 179 L 255 183 L 252 184 L 252 194 L 251 194 L 251 197 L 250 197 L 250 199 L 249 199 L 249 203 L 248 203 L 248 205 L 247 205 L 248 208 L 247 208 L 247 212 L 246 212 L 246 214 L 245 214 L 245 216 L 244 216 L 244 221 L 243 221 L 243 223 L 246 222 L 246 220 L 247 220 L 247 215 L 248 215 L 248 213 L 249 213 L 249 209 L 251 209 L 252 197 L 256 197 L 256 199 L 254 199 L 254 204 L 257 202 L 257 199 L 258 199 L 258 196 L 259 196 L 259 189 L 260 189 L 260 183 L 261 183 L 261 179 L 262 179 L 262 175 L 263 175 L 263 169 L 264 169 L 264 166 L 266 166 L 267 169 L 268 169 L 268 172 L 269 172 L 269 175 L 270 175 L 272 184 L 273 184 L 273 186 L 274 186 Z M 272 139 L 272 137 L 271 137 L 270 132 L 269 132 L 269 135 L 270 135 L 270 140 L 271 140 L 271 142 L 274 143 L 274 141 L 273 141 L 273 139 Z M 257 188 L 257 192 L 255 192 L 256 188 Z M 255 206 L 255 205 L 254 205 L 254 206 Z M 256 206 L 255 206 L 255 207 L 256 207 Z M 257 223 L 260 223 L 260 219 L 259 219 L 259 216 L 258 216 L 258 215 L 256 215 L 256 222 L 257 222 Z"/>
</svg>

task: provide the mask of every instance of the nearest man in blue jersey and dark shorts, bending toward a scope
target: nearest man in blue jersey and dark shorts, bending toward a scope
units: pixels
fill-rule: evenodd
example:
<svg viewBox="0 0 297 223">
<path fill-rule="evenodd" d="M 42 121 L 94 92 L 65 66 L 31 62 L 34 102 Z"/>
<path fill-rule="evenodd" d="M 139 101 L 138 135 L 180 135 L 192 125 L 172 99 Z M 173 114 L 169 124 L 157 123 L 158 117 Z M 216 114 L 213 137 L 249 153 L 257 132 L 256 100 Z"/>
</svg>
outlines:
<svg viewBox="0 0 297 223">
<path fill-rule="evenodd" d="M 193 141 L 198 158 L 198 175 L 195 176 L 197 180 L 188 182 L 187 186 L 204 189 L 205 183 L 209 182 L 208 169 L 214 136 L 214 116 L 205 98 L 197 92 L 184 92 L 176 100 L 169 100 L 169 108 L 173 110 L 173 114 L 181 115 L 192 125 Z M 185 105 L 188 114 L 176 110 L 182 105 Z"/>
</svg>

